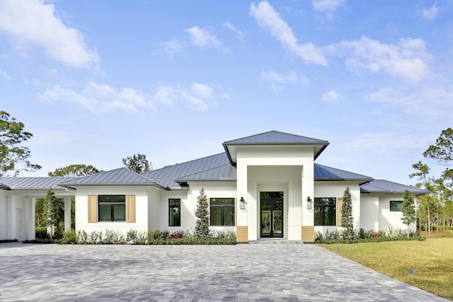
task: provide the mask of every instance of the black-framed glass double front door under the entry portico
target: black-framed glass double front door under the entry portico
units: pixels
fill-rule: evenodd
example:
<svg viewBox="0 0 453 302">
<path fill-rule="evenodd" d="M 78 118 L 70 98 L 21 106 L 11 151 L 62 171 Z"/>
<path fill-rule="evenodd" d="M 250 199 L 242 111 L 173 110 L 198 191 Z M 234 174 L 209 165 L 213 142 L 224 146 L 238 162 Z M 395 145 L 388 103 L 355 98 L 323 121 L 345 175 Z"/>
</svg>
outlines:
<svg viewBox="0 0 453 302">
<path fill-rule="evenodd" d="M 283 192 L 260 192 L 260 236 L 283 237 Z"/>
</svg>

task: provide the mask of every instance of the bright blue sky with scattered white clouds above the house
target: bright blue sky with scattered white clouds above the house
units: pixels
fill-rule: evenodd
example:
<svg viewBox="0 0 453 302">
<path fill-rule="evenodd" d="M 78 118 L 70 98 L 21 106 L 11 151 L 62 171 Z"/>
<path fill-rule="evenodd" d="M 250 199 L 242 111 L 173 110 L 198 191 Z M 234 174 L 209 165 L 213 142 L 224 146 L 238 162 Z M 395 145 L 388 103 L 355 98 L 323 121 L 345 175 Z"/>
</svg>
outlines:
<svg viewBox="0 0 453 302">
<path fill-rule="evenodd" d="M 153 168 L 277 130 L 405 184 L 452 127 L 453 1 L 0 2 L 1 108 L 45 176 Z"/>
</svg>

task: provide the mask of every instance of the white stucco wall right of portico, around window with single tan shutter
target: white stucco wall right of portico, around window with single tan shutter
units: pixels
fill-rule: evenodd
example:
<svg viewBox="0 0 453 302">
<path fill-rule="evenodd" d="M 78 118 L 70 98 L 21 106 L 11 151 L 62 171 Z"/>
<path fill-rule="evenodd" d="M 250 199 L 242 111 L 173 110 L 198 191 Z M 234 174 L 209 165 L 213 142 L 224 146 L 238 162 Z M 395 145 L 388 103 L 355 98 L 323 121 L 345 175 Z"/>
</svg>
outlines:
<svg viewBox="0 0 453 302">
<path fill-rule="evenodd" d="M 335 197 L 343 198 L 343 194 L 346 190 L 346 187 L 349 187 L 352 199 L 352 219 L 354 220 L 354 228 L 358 231 L 361 223 L 360 216 L 360 187 L 358 182 L 351 181 L 317 181 L 314 185 L 314 197 L 315 198 L 326 198 L 326 197 Z M 340 211 L 338 207 L 336 211 Z M 336 221 L 337 226 L 340 225 L 340 221 Z M 334 231 L 340 229 L 336 226 L 315 226 L 315 232 L 321 231 L 321 233 L 326 233 L 326 231 Z"/>
</svg>

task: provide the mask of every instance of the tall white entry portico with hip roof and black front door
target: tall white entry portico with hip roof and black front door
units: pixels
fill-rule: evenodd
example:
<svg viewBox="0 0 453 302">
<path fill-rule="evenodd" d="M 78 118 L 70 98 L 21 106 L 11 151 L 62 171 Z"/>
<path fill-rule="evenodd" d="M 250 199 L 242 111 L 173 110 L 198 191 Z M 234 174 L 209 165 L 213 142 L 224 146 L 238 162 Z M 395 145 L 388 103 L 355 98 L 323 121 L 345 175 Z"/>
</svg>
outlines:
<svg viewBox="0 0 453 302">
<path fill-rule="evenodd" d="M 305 232 L 313 242 L 313 209 L 307 208 L 307 199 L 314 196 L 314 160 L 328 141 L 266 132 L 223 145 L 236 166 L 237 199 L 245 197 L 238 211 L 238 241 L 301 240 Z"/>
</svg>

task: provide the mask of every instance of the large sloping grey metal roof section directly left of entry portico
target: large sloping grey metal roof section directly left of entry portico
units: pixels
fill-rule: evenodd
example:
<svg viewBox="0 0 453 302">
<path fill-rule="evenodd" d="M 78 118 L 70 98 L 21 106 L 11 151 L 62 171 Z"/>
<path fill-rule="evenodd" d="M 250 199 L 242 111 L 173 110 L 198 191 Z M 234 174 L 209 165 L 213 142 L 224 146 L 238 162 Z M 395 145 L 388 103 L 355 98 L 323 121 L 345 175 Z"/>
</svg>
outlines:
<svg viewBox="0 0 453 302">
<path fill-rule="evenodd" d="M 195 179 L 200 180 L 208 176 L 210 177 L 209 180 L 229 178 L 232 175 L 232 172 L 229 171 L 231 168 L 226 153 L 219 153 L 213 156 L 195 159 L 194 161 L 177 163 L 176 165 L 152 170 L 142 175 L 166 187 L 179 187 L 178 182 Z M 234 178 L 236 179 L 235 175 L 236 169 L 234 169 Z M 185 176 L 188 178 L 185 178 Z"/>
</svg>

